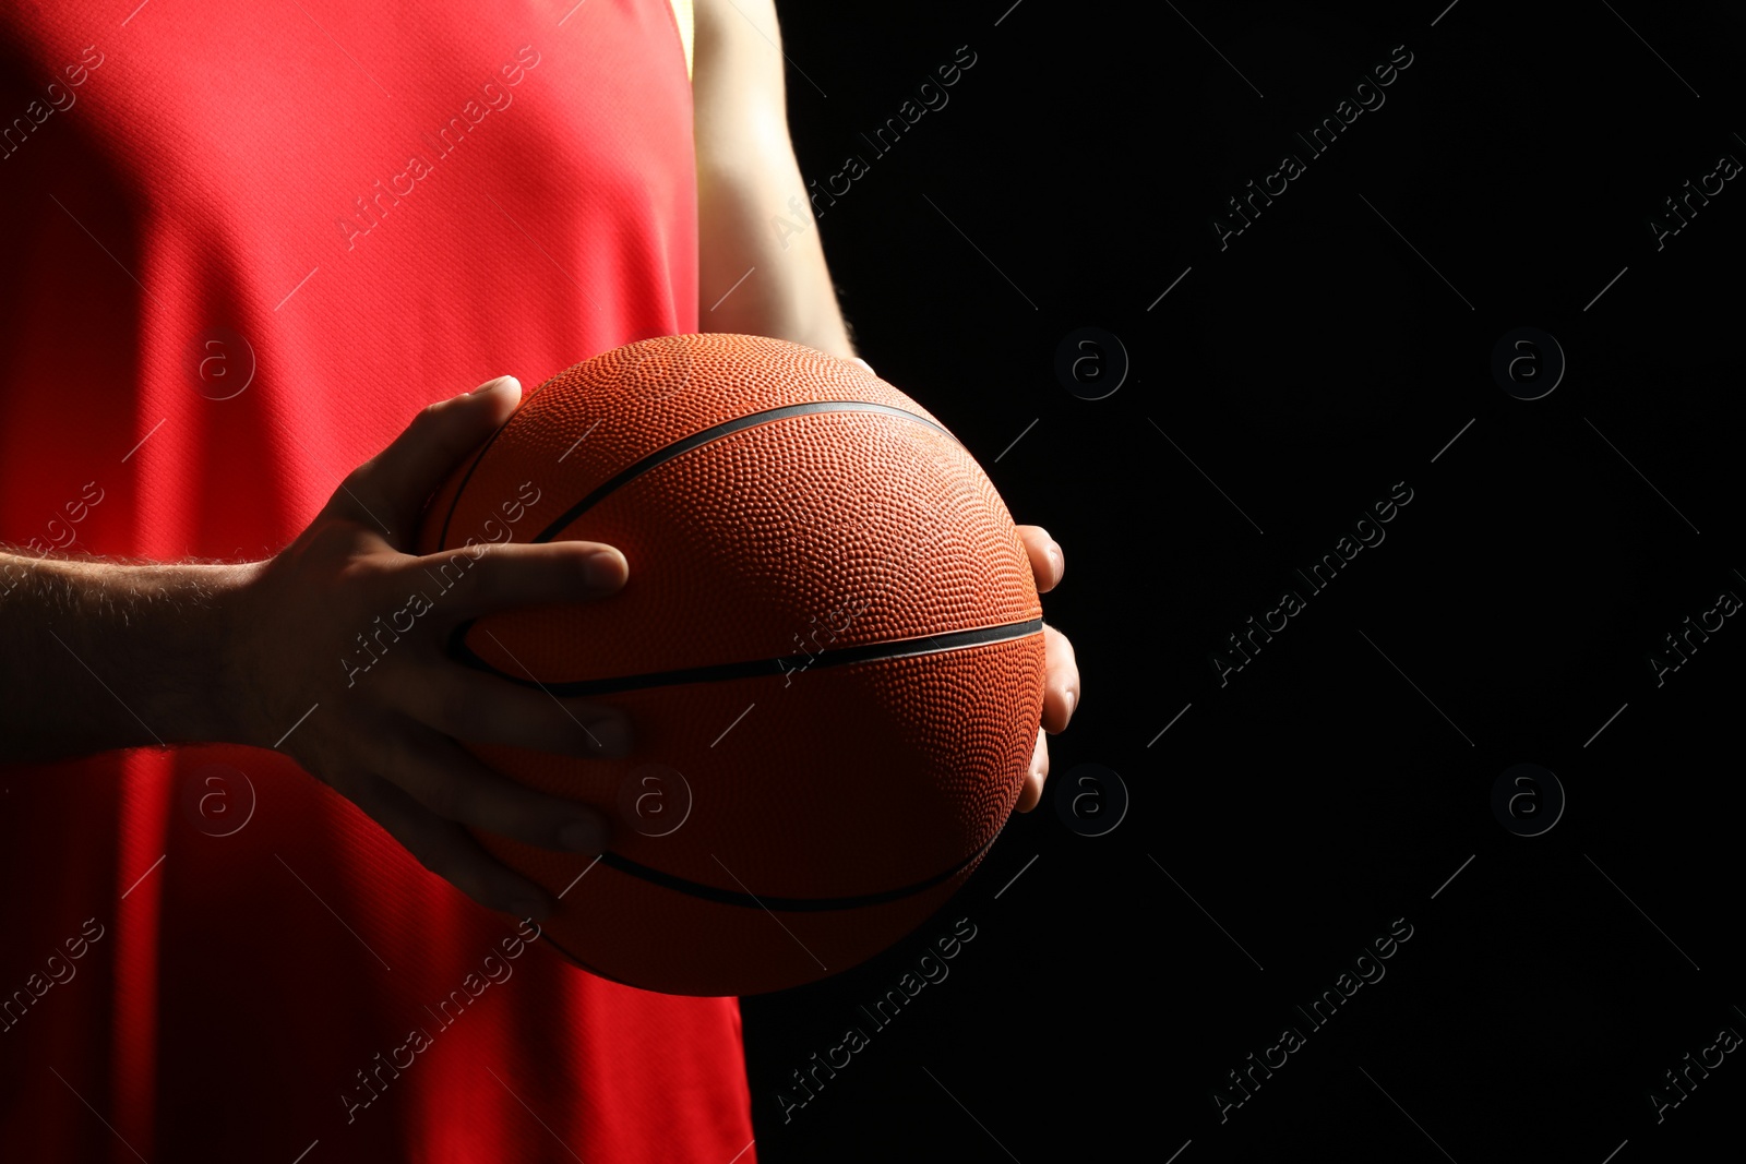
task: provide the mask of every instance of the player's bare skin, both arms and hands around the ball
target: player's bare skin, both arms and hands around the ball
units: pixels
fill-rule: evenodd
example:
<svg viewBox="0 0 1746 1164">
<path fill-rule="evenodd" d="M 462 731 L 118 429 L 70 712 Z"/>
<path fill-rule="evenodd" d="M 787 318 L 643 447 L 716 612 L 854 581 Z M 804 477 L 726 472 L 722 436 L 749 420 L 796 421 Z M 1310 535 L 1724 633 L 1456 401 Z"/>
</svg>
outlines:
<svg viewBox="0 0 1746 1164">
<path fill-rule="evenodd" d="M 782 248 L 766 222 L 768 208 L 805 201 L 770 0 L 698 0 L 693 99 L 700 330 L 857 359 L 819 232 Z M 751 267 L 758 277 L 719 300 Z M 449 562 L 447 553 L 414 555 L 382 527 L 416 529 L 424 499 L 510 417 L 520 391 L 513 377 L 498 377 L 428 405 L 265 560 L 122 562 L 0 546 L 0 689 L 9 693 L 0 759 L 175 743 L 278 749 L 473 900 L 548 916 L 552 895 L 491 857 L 471 831 L 597 853 L 611 843 L 609 822 L 498 775 L 459 742 L 625 756 L 629 724 L 585 700 L 559 700 L 560 716 L 552 696 L 461 667 L 442 642 L 466 618 L 608 597 L 632 569 L 623 553 L 581 541 L 491 544 L 367 675 L 347 682 L 358 677 L 335 667 L 356 651 L 360 632 L 402 611 Z M 1065 571 L 1062 548 L 1037 525 L 1018 532 L 1048 593 Z M 1048 625 L 1044 644 L 1042 716 L 1020 811 L 1039 803 L 1048 735 L 1067 728 L 1079 702 L 1072 644 Z"/>
</svg>

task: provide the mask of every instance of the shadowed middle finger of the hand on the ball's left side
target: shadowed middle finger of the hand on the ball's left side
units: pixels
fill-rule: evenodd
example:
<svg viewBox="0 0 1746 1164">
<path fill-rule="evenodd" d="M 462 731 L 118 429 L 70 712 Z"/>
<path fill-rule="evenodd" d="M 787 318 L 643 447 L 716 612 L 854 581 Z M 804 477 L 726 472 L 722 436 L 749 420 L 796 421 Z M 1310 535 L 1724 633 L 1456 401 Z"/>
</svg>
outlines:
<svg viewBox="0 0 1746 1164">
<path fill-rule="evenodd" d="M 423 682 L 409 689 L 405 710 L 440 735 L 470 743 L 508 743 L 581 759 L 630 752 L 630 722 L 618 709 L 559 700 L 454 663 L 433 663 Z"/>
</svg>

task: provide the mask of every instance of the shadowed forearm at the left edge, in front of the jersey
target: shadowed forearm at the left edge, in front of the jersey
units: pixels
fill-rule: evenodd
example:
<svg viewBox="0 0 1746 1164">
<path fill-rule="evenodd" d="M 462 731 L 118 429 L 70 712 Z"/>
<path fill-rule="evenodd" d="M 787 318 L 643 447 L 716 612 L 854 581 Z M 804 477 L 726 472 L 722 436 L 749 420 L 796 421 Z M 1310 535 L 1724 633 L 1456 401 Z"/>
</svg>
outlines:
<svg viewBox="0 0 1746 1164">
<path fill-rule="evenodd" d="M 225 620 L 251 569 L 0 550 L 0 763 L 227 740 Z"/>
</svg>

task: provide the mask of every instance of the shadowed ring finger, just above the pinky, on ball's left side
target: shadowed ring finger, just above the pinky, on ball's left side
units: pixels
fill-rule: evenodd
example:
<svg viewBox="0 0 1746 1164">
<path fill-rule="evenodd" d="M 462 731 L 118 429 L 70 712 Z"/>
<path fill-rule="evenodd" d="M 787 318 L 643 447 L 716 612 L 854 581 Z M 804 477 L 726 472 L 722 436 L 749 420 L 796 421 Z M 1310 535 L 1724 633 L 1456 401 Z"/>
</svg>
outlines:
<svg viewBox="0 0 1746 1164">
<path fill-rule="evenodd" d="M 454 740 L 407 724 L 381 775 L 431 813 L 524 845 L 599 853 L 611 825 L 581 801 L 536 792 L 468 756 Z"/>
</svg>

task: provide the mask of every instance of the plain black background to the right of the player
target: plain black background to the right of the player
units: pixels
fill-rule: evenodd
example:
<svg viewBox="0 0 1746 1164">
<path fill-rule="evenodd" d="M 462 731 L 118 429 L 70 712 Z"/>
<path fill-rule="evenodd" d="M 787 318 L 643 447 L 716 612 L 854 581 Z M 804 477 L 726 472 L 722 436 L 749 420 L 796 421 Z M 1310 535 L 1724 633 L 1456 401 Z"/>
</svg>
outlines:
<svg viewBox="0 0 1746 1164">
<path fill-rule="evenodd" d="M 786 3 L 789 112 L 807 178 L 870 166 L 815 223 L 861 353 L 1065 546 L 1044 609 L 1083 703 L 1051 794 L 1098 763 L 1131 806 L 1084 838 L 1049 796 L 911 939 L 744 1000 L 760 1159 L 1736 1143 L 1739 1054 L 1660 1122 L 1650 1092 L 1746 1031 L 1746 630 L 1660 686 L 1648 656 L 1746 595 L 1746 194 L 1662 250 L 1648 222 L 1746 159 L 1739 12 L 1007 3 Z M 960 45 L 950 103 L 876 155 Z M 1386 103 L 1220 250 L 1224 201 L 1395 45 Z M 1131 359 L 1105 400 L 1055 375 L 1081 326 Z M 1568 358 L 1540 400 L 1489 370 L 1517 326 Z M 1397 482 L 1386 539 L 1220 686 L 1210 653 Z M 1540 836 L 1491 810 L 1517 763 L 1568 798 Z M 957 918 L 950 977 L 784 1120 L 789 1073 Z M 1294 1005 L 1395 918 L 1386 976 L 1313 1030 Z M 1287 1024 L 1306 1045 L 1220 1122 Z"/>
</svg>

